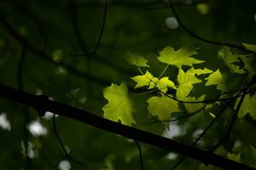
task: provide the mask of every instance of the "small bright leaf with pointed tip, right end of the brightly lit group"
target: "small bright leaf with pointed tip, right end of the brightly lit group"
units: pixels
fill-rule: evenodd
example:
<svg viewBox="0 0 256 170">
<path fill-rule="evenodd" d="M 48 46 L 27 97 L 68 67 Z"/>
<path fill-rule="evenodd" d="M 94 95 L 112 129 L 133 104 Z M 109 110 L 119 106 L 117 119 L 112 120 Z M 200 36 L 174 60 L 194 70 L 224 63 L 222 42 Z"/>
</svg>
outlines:
<svg viewBox="0 0 256 170">
<path fill-rule="evenodd" d="M 207 83 L 206 86 L 212 86 L 212 85 L 217 85 L 218 90 L 224 90 L 227 91 L 227 88 L 224 83 L 224 77 L 220 73 L 219 70 L 213 72 L 209 77 L 206 78 Z"/>
</svg>

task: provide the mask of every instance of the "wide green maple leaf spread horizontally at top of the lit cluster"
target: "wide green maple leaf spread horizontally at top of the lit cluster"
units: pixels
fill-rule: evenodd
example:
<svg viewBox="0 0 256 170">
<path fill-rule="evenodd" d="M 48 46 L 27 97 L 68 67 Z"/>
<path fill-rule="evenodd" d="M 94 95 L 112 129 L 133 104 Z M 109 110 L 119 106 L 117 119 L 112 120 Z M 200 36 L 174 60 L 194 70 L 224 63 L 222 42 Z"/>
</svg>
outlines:
<svg viewBox="0 0 256 170">
<path fill-rule="evenodd" d="M 191 55 L 197 54 L 195 51 L 189 50 L 188 48 L 179 48 L 175 51 L 174 48 L 168 46 L 160 51 L 160 56 L 157 58 L 160 62 L 166 63 L 168 65 L 176 65 L 181 68 L 182 65 L 192 66 L 193 64 L 199 64 L 204 61 L 199 59 L 194 59 L 190 57 Z"/>
</svg>

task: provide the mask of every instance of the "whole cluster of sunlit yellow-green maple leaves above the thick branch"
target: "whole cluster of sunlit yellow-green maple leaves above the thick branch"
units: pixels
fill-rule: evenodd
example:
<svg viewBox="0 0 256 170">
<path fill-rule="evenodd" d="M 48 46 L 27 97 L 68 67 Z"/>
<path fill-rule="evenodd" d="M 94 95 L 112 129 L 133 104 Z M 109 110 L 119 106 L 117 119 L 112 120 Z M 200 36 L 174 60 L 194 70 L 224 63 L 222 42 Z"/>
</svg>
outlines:
<svg viewBox="0 0 256 170">
<path fill-rule="evenodd" d="M 253 48 L 253 45 L 244 44 L 246 48 Z M 151 116 L 157 116 L 159 121 L 167 122 L 171 119 L 172 113 L 184 111 L 187 113 L 195 113 L 209 109 L 209 113 L 214 102 L 209 102 L 207 105 L 204 103 L 206 94 L 200 97 L 190 95 L 192 91 L 195 91 L 194 85 L 198 83 L 204 83 L 204 86 L 211 86 L 218 89 L 219 94 L 217 99 L 227 98 L 230 95 L 237 93 L 234 88 L 242 88 L 255 74 L 256 69 L 253 68 L 253 57 L 251 55 L 239 55 L 232 54 L 230 48 L 224 47 L 218 51 L 219 59 L 224 62 L 222 65 L 229 71 L 212 71 L 211 69 L 204 67 L 204 60 L 195 59 L 192 57 L 197 54 L 194 50 L 189 48 L 179 48 L 177 51 L 168 46 L 160 51 L 160 56 L 157 59 L 166 64 L 166 68 L 161 72 L 159 77 L 154 77 L 148 70 L 142 71 L 141 75 L 131 77 L 131 80 L 136 82 L 135 88 L 148 88 L 148 93 L 155 92 L 154 96 L 150 97 L 148 102 L 148 113 Z M 138 67 L 148 68 L 148 60 L 144 59 L 139 54 L 129 54 L 126 60 L 131 65 Z M 163 77 L 169 65 L 174 65 L 178 69 L 177 77 L 171 80 L 170 77 Z M 203 66 L 203 68 L 195 68 L 195 65 Z M 183 66 L 189 66 L 186 71 Z M 245 74 L 247 80 L 243 83 L 239 82 L 239 86 L 229 87 L 228 76 L 229 74 Z M 242 86 L 241 86 L 242 85 Z M 172 94 L 168 92 L 172 91 Z M 231 93 L 232 92 L 232 93 Z M 121 121 L 126 125 L 131 125 L 135 122 L 133 118 L 133 112 L 136 111 L 133 108 L 132 101 L 128 96 L 128 89 L 125 82 L 121 85 L 112 84 L 110 87 L 105 88 L 103 91 L 104 97 L 108 99 L 109 103 L 103 107 L 104 117 L 113 120 L 115 122 Z M 225 95 L 224 95 L 225 94 Z M 214 99 L 212 99 L 214 101 Z M 239 117 L 242 118 L 250 113 L 253 119 L 256 119 L 255 107 L 253 103 L 256 101 L 256 95 L 247 94 L 241 105 L 241 111 Z M 212 115 L 213 116 L 213 115 Z"/>
</svg>

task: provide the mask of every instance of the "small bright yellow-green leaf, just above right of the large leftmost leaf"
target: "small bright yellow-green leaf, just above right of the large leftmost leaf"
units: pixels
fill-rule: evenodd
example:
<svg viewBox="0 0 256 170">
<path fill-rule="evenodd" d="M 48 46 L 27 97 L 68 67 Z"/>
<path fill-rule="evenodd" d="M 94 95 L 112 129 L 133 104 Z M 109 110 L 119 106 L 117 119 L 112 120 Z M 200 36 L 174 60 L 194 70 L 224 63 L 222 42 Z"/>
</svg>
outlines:
<svg viewBox="0 0 256 170">
<path fill-rule="evenodd" d="M 154 76 L 149 72 L 146 71 L 144 75 L 136 76 L 136 77 L 131 77 L 131 80 L 134 82 L 137 82 L 135 88 L 141 88 L 143 86 L 149 86 L 150 82 L 156 82 L 157 80 L 153 80 Z"/>
</svg>

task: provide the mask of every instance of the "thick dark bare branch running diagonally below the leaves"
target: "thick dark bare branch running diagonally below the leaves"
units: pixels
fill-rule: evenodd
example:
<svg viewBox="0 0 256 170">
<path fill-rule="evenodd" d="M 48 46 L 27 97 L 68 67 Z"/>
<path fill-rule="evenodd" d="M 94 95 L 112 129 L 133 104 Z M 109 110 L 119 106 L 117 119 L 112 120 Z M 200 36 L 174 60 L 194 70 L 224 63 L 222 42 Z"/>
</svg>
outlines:
<svg viewBox="0 0 256 170">
<path fill-rule="evenodd" d="M 30 106 L 38 111 L 41 116 L 44 116 L 45 111 L 56 113 L 60 116 L 67 116 L 79 122 L 84 122 L 93 127 L 98 127 L 102 130 L 116 133 L 129 139 L 135 139 L 145 144 L 151 144 L 165 150 L 171 150 L 184 156 L 189 156 L 205 164 L 212 164 L 224 169 L 236 170 L 253 170 L 253 167 L 248 167 L 245 164 L 231 161 L 222 156 L 215 155 L 207 150 L 200 150 L 193 146 L 178 143 L 172 139 L 166 139 L 154 133 L 148 133 L 134 127 L 128 127 L 118 122 L 112 122 L 101 116 L 96 116 L 88 111 L 83 111 L 71 105 L 65 105 L 56 101 L 51 101 L 47 96 L 37 96 L 27 94 L 15 88 L 9 88 L 0 84 L 0 96 L 4 99 L 10 99 L 20 104 Z M 254 169 L 255 170 L 255 169 Z"/>
</svg>

